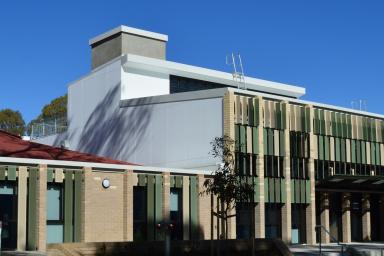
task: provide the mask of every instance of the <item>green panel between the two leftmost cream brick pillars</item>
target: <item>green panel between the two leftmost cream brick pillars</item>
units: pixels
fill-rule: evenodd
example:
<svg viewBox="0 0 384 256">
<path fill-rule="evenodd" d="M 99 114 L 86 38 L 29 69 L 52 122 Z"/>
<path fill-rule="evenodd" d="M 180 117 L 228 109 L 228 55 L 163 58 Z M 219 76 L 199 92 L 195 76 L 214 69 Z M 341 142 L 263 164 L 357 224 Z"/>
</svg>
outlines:
<svg viewBox="0 0 384 256">
<path fill-rule="evenodd" d="M 37 250 L 37 184 L 39 169 L 29 169 L 28 177 L 28 221 L 27 250 Z"/>
</svg>

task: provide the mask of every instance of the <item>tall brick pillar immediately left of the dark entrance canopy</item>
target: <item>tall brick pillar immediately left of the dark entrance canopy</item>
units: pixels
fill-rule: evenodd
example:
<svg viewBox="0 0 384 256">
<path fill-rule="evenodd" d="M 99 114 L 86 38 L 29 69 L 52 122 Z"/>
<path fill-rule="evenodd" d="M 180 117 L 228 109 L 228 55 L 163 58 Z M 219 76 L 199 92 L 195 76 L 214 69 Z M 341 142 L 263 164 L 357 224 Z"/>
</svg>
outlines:
<svg viewBox="0 0 384 256">
<path fill-rule="evenodd" d="M 313 107 L 306 106 L 310 108 L 310 120 L 313 120 Z M 310 132 L 309 132 L 309 159 L 308 159 L 308 174 L 310 180 L 310 203 L 305 210 L 306 215 L 306 233 L 307 233 L 307 244 L 316 244 L 316 201 L 315 201 L 315 135 L 313 134 L 313 122 L 310 122 Z"/>
</svg>

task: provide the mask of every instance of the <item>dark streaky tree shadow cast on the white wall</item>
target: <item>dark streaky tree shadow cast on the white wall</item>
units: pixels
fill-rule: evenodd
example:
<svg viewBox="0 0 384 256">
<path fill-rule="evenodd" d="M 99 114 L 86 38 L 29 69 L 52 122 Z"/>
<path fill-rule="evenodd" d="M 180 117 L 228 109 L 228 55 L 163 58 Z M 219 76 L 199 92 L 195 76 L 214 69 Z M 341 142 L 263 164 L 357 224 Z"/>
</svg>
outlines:
<svg viewBox="0 0 384 256">
<path fill-rule="evenodd" d="M 146 101 L 142 99 L 139 104 L 145 104 Z M 76 150 L 123 161 L 130 160 L 140 138 L 147 131 L 152 106 L 120 108 L 119 102 L 120 84 L 117 84 L 90 114 L 82 131 L 68 134 L 72 142 L 75 134 L 80 133 Z"/>
</svg>

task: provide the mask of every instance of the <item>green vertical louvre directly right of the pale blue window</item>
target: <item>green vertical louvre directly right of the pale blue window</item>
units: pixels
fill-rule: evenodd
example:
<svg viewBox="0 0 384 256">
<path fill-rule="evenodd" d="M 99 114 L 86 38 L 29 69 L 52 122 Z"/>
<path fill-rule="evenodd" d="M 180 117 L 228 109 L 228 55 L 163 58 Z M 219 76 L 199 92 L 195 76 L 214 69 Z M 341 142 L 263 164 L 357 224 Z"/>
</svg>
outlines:
<svg viewBox="0 0 384 256">
<path fill-rule="evenodd" d="M 64 173 L 64 242 L 73 242 L 73 171 Z"/>
</svg>

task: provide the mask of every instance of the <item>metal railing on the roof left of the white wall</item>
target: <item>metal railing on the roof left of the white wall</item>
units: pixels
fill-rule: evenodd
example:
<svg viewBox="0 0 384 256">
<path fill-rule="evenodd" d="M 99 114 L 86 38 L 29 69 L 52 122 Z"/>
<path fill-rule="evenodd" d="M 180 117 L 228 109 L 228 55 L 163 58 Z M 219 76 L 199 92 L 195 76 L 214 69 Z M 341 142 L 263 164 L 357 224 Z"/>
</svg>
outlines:
<svg viewBox="0 0 384 256">
<path fill-rule="evenodd" d="M 42 120 L 32 124 L 31 139 L 46 137 L 65 132 L 68 128 L 67 118 L 55 118 L 51 120 Z"/>
</svg>

